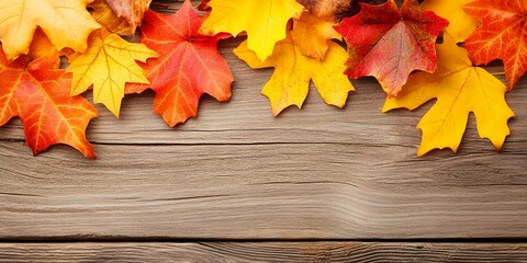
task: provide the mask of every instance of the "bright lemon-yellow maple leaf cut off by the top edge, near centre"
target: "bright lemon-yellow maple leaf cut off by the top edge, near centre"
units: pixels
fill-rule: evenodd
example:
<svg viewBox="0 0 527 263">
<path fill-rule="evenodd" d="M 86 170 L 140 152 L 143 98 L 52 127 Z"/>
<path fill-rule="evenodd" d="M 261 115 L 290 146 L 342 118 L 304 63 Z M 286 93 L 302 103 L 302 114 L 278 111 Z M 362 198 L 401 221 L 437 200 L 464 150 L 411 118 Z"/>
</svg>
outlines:
<svg viewBox="0 0 527 263">
<path fill-rule="evenodd" d="M 210 16 L 200 28 L 204 35 L 247 32 L 248 48 L 264 61 L 274 44 L 285 38 L 289 19 L 302 13 L 294 0 L 211 0 Z"/>
</svg>

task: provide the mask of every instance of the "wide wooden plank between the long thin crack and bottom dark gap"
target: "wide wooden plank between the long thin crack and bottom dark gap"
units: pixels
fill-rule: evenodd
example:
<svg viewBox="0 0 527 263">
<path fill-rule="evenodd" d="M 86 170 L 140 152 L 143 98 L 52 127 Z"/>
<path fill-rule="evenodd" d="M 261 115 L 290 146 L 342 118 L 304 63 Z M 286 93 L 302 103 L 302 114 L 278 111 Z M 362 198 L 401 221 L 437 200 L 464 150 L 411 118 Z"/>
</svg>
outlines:
<svg viewBox="0 0 527 263">
<path fill-rule="evenodd" d="M 340 144 L 0 145 L 0 238 L 527 237 L 525 149 L 423 159 Z M 375 150 L 377 149 L 377 150 Z"/>
</svg>

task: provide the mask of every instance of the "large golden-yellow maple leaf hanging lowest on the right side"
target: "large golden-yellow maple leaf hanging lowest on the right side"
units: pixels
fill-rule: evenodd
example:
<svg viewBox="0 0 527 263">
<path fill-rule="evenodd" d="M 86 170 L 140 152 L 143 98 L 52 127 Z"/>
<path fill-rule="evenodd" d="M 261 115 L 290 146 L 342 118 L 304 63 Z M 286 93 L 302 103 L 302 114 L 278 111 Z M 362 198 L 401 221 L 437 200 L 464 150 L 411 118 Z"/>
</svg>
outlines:
<svg viewBox="0 0 527 263">
<path fill-rule="evenodd" d="M 467 50 L 448 35 L 437 53 L 436 72 L 411 76 L 401 94 L 386 100 L 383 112 L 397 107 L 412 111 L 437 98 L 417 125 L 423 130 L 418 156 L 447 147 L 456 152 L 471 112 L 480 137 L 489 138 L 500 150 L 509 134 L 507 122 L 514 116 L 505 101 L 506 87 L 486 70 L 472 67 Z"/>
</svg>

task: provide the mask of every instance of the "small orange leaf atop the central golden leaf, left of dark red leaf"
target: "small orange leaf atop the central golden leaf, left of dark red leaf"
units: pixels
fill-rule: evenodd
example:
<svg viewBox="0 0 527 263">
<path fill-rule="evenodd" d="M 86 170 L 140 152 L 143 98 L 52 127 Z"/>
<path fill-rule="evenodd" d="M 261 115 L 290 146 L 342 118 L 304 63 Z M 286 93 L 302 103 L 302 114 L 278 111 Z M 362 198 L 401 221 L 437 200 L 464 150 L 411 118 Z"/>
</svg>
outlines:
<svg viewBox="0 0 527 263">
<path fill-rule="evenodd" d="M 341 39 L 340 34 L 333 28 L 334 25 L 333 15 L 319 18 L 303 12 L 300 19 L 293 21 L 291 37 L 302 54 L 323 60 L 332 39 Z"/>
</svg>

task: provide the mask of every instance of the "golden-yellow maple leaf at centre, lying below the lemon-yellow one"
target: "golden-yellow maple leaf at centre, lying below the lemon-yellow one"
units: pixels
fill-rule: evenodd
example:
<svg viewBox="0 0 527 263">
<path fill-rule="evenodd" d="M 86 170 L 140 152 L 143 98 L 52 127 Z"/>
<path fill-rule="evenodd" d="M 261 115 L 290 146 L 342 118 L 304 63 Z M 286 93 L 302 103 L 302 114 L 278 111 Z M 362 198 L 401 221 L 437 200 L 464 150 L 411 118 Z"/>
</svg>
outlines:
<svg viewBox="0 0 527 263">
<path fill-rule="evenodd" d="M 234 53 L 254 69 L 276 68 L 261 91 L 269 98 L 274 116 L 290 105 L 300 108 L 307 96 L 311 80 L 326 103 L 339 107 L 346 104 L 348 92 L 355 90 L 343 75 L 346 50 L 336 43 L 329 44 L 322 61 L 302 55 L 290 37 L 277 43 L 273 54 L 264 62 L 248 48 L 247 41 Z"/>
</svg>

